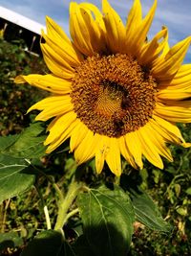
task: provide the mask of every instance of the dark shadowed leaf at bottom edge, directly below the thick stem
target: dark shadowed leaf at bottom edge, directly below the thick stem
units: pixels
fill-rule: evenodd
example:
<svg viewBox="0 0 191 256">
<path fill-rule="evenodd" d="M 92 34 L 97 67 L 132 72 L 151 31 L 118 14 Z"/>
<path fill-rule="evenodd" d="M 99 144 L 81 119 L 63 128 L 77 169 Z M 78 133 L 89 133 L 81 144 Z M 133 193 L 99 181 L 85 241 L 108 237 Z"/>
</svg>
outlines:
<svg viewBox="0 0 191 256">
<path fill-rule="evenodd" d="M 75 256 L 71 246 L 63 241 L 58 231 L 47 230 L 38 234 L 21 256 Z"/>
</svg>

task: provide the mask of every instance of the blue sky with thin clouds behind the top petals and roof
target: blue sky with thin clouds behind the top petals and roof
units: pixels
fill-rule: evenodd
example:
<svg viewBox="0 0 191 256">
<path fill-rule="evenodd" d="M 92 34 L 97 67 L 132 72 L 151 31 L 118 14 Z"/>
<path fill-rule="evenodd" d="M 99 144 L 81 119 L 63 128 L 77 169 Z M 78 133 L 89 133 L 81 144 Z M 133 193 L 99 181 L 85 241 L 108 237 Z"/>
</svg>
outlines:
<svg viewBox="0 0 191 256">
<path fill-rule="evenodd" d="M 148 12 L 154 0 L 141 0 L 143 14 Z M 23 14 L 34 21 L 45 24 L 45 16 L 51 16 L 67 34 L 69 34 L 69 5 L 70 0 L 0 0 L 0 6 Z M 84 2 L 75 0 L 75 2 Z M 101 6 L 100 0 L 89 0 L 85 2 Z M 113 8 L 125 21 L 133 0 L 110 0 Z M 151 27 L 149 38 L 159 32 L 162 25 L 169 29 L 169 42 L 173 45 L 191 35 L 191 0 L 158 0 L 158 9 L 155 20 Z M 186 62 L 191 62 L 191 47 L 188 51 Z"/>
</svg>

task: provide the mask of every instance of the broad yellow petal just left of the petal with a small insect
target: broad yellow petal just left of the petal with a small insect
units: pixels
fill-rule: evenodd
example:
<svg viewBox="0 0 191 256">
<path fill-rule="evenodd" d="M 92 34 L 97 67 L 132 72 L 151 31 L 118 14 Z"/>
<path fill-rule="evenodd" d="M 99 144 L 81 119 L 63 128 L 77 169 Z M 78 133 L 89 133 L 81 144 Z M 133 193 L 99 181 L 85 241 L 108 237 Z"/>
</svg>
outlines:
<svg viewBox="0 0 191 256">
<path fill-rule="evenodd" d="M 74 158 L 78 165 L 90 160 L 96 153 L 97 139 L 94 132 L 87 130 L 86 136 L 74 151 Z"/>
</svg>

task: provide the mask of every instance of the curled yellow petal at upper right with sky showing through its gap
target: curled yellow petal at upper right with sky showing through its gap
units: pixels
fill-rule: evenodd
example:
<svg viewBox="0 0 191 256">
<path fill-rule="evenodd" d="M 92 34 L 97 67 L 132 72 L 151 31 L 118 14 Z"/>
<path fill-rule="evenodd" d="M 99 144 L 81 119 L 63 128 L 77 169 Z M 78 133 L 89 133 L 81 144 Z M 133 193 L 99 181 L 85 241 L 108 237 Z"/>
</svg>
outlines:
<svg viewBox="0 0 191 256">
<path fill-rule="evenodd" d="M 166 45 L 168 39 L 168 32 L 165 27 L 155 35 L 155 37 L 148 43 L 145 43 L 140 50 L 138 62 L 144 65 L 152 65 L 152 62 L 159 57 L 160 52 Z"/>
</svg>

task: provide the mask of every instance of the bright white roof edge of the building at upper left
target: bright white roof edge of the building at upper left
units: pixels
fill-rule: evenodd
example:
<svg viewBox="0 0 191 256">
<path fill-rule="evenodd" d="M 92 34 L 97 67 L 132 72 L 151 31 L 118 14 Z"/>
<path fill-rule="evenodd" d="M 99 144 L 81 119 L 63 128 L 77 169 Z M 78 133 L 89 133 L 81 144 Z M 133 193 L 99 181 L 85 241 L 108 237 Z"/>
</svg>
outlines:
<svg viewBox="0 0 191 256">
<path fill-rule="evenodd" d="M 33 21 L 30 18 L 27 18 L 17 12 L 13 12 L 7 8 L 0 6 L 0 17 L 8 21 L 11 21 L 14 24 L 19 25 L 29 31 L 32 31 L 38 35 L 41 35 L 41 30 L 46 31 L 46 27 L 42 24 Z"/>
</svg>

